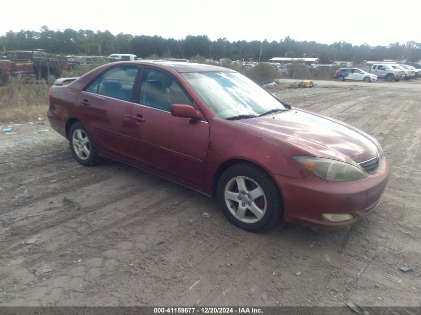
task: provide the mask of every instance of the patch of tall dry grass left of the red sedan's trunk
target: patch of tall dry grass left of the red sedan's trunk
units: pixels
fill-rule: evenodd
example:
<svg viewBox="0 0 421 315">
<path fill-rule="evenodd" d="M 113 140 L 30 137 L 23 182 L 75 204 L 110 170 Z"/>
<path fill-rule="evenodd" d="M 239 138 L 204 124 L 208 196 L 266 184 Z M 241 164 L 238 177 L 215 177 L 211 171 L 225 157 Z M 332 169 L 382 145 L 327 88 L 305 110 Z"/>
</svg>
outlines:
<svg viewBox="0 0 421 315">
<path fill-rule="evenodd" d="M 10 78 L 0 87 L 0 121 L 28 121 L 46 116 L 49 85 Z"/>
</svg>

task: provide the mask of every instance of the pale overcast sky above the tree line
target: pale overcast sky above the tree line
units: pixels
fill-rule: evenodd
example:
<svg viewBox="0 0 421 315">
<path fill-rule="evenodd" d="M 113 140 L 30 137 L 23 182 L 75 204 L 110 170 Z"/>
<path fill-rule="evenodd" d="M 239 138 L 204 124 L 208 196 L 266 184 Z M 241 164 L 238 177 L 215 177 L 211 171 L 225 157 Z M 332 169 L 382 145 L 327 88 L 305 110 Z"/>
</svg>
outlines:
<svg viewBox="0 0 421 315">
<path fill-rule="evenodd" d="M 421 42 L 421 0 L 20 0 L 18 6 L 4 1 L 1 11 L 15 13 L 1 14 L 0 35 L 46 25 L 175 39 L 191 34 L 371 46 Z"/>
</svg>

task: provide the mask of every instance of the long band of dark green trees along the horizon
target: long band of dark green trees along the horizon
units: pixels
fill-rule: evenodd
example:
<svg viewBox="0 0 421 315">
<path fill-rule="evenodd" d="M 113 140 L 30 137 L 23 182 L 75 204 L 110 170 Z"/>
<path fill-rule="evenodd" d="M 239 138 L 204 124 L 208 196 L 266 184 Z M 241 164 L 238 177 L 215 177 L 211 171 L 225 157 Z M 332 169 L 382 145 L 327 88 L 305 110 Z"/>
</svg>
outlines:
<svg viewBox="0 0 421 315">
<path fill-rule="evenodd" d="M 219 60 L 252 59 L 268 60 L 273 57 L 317 57 L 320 63 L 334 61 L 397 59 L 417 62 L 421 60 L 421 42 L 405 44 L 391 43 L 388 46 L 352 45 L 345 41 L 321 44 L 314 41 L 296 41 L 289 36 L 280 41 L 233 41 L 218 38 L 211 41 L 206 35 L 188 35 L 184 39 L 161 36 L 132 35 L 110 31 L 50 30 L 42 26 L 40 31 L 9 31 L 0 36 L 0 49 L 32 50 L 45 49 L 49 53 L 68 55 L 110 55 L 112 53 L 136 54 L 140 58 L 158 56 L 161 58 L 192 59 L 200 55 Z"/>
</svg>

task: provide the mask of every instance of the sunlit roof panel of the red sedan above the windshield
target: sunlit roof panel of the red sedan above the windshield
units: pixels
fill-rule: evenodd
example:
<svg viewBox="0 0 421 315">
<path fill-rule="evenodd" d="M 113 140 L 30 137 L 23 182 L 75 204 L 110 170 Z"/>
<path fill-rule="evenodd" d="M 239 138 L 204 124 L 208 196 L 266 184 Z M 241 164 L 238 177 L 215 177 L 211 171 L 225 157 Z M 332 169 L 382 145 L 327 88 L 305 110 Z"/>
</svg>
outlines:
<svg viewBox="0 0 421 315">
<path fill-rule="evenodd" d="M 124 63 L 124 62 L 122 62 Z M 126 62 L 127 63 L 127 62 Z M 172 69 L 179 73 L 186 72 L 236 72 L 235 70 L 218 67 L 213 65 L 206 65 L 194 62 L 182 62 L 182 61 L 132 61 L 131 63 L 148 65 L 148 66 L 158 66 L 162 69 Z"/>
</svg>

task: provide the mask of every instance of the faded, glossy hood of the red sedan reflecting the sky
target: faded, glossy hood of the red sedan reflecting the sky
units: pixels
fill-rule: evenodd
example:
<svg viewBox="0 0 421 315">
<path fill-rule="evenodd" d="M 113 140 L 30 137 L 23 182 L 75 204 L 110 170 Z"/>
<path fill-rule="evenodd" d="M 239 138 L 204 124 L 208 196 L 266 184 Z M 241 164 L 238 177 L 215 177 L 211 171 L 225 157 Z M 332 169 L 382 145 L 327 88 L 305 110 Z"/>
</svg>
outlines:
<svg viewBox="0 0 421 315">
<path fill-rule="evenodd" d="M 376 140 L 365 132 L 302 109 L 292 108 L 275 115 L 233 122 L 278 138 L 313 156 L 358 163 L 379 153 Z"/>
</svg>

